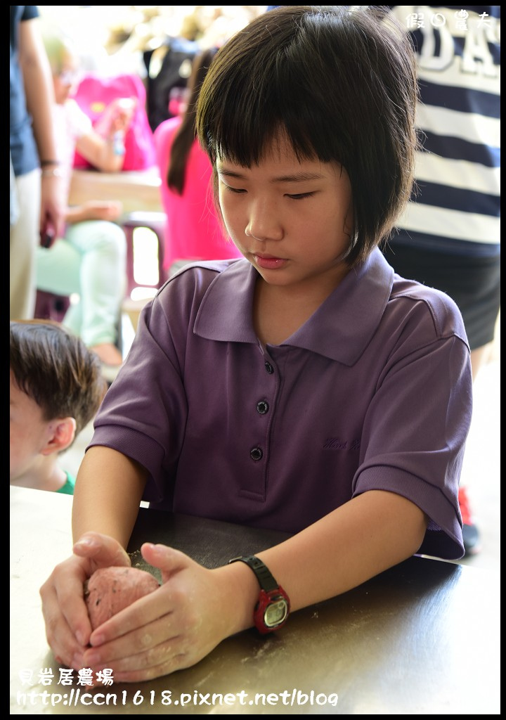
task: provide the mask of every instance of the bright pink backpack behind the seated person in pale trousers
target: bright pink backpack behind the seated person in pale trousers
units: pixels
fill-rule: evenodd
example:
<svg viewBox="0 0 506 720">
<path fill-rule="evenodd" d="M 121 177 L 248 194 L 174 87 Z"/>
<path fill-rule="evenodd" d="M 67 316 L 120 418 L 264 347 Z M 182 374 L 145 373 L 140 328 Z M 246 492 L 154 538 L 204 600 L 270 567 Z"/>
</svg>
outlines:
<svg viewBox="0 0 506 720">
<path fill-rule="evenodd" d="M 107 107 L 114 100 L 135 100 L 132 122 L 125 133 L 124 171 L 147 170 L 156 164 L 153 131 L 150 128 L 145 109 L 146 91 L 143 81 L 136 75 L 124 74 L 102 77 L 86 73 L 78 84 L 73 99 L 86 112 L 93 126 L 101 132 L 107 125 Z M 93 166 L 77 150 L 74 168 L 89 170 Z"/>
</svg>

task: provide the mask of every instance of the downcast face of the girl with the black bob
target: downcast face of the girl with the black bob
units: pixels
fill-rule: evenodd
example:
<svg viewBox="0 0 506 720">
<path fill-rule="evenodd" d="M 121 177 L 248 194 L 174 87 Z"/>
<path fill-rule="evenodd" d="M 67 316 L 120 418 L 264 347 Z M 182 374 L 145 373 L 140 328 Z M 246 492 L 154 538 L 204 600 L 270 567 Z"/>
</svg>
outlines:
<svg viewBox="0 0 506 720">
<path fill-rule="evenodd" d="M 342 166 L 299 161 L 281 138 L 258 166 L 217 158 L 217 175 L 228 233 L 268 284 L 304 292 L 340 282 L 353 237 L 351 184 Z"/>
</svg>

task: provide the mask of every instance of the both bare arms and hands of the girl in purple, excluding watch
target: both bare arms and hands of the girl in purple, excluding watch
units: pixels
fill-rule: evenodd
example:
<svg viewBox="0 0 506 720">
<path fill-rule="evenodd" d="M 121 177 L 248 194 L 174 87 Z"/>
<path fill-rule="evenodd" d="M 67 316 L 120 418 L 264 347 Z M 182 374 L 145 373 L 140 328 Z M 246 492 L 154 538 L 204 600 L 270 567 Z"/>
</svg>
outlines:
<svg viewBox="0 0 506 720">
<path fill-rule="evenodd" d="M 127 545 L 143 484 L 143 472 L 116 451 L 95 447 L 86 453 L 73 509 L 75 539 L 86 533 L 74 549 L 79 557 L 58 566 L 42 588 L 46 624 L 59 617 L 63 627 L 48 631 L 53 652 L 75 668 L 112 667 L 118 682 L 148 680 L 194 665 L 227 636 L 253 626 L 259 594 L 255 575 L 243 563 L 208 570 L 177 550 L 147 543 L 143 557 L 161 569 L 163 585 L 90 635 L 82 590 L 76 601 L 83 575 L 83 566 L 76 562 L 89 563 L 91 555 L 107 558 L 119 544 Z M 426 525 L 422 510 L 410 500 L 370 490 L 258 557 L 296 611 L 344 593 L 410 557 L 420 547 Z M 69 611 L 69 606 L 75 609 Z M 76 636 L 85 642 L 78 644 Z M 88 640 L 91 649 L 86 649 Z"/>
</svg>

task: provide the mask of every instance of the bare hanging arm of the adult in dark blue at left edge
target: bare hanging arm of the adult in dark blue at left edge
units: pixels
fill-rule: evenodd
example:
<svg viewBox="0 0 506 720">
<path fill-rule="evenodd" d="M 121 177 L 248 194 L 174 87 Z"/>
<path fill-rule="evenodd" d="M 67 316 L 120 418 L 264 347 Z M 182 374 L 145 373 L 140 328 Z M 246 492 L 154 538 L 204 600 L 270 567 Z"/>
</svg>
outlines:
<svg viewBox="0 0 506 720">
<path fill-rule="evenodd" d="M 63 182 L 58 174 L 53 174 L 53 171 L 58 171 L 52 116 L 55 98 L 39 22 L 38 18 L 32 18 L 19 24 L 19 66 L 22 68 L 27 109 L 32 116 L 42 165 L 40 230 L 41 233 L 49 231 L 50 235 L 57 237 L 63 231 L 65 198 Z M 49 161 L 55 161 L 55 164 L 45 164 Z"/>
</svg>

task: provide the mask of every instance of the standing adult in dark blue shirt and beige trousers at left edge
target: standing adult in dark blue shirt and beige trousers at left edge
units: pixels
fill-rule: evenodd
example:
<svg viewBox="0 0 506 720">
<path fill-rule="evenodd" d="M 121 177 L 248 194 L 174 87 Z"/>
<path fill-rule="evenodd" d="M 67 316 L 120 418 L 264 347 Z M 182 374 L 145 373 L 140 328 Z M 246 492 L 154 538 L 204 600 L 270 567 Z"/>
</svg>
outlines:
<svg viewBox="0 0 506 720">
<path fill-rule="evenodd" d="M 37 5 L 10 6 L 10 307 L 33 318 L 35 248 L 63 224 L 64 194 L 51 109 L 53 83 Z"/>
</svg>

